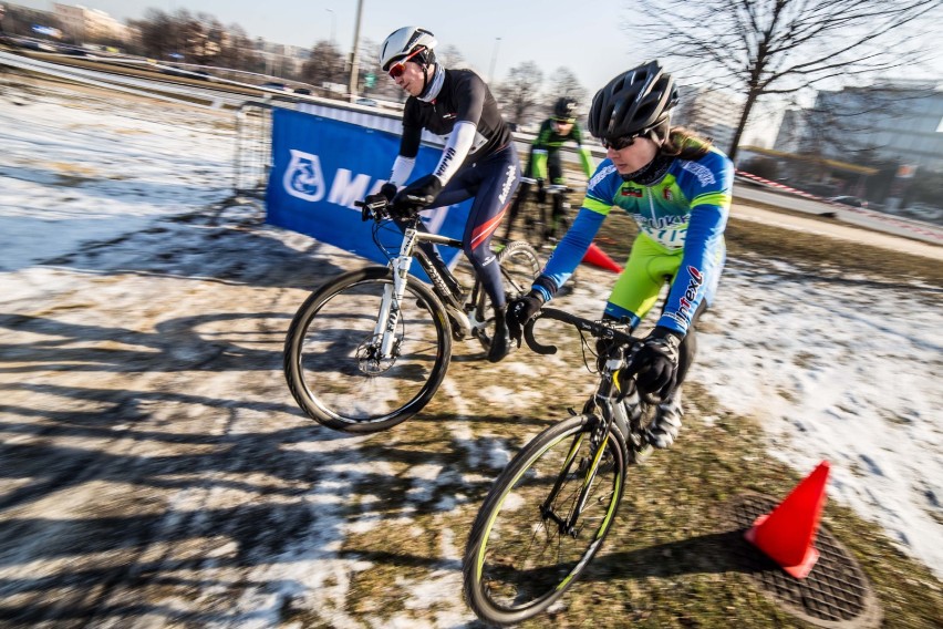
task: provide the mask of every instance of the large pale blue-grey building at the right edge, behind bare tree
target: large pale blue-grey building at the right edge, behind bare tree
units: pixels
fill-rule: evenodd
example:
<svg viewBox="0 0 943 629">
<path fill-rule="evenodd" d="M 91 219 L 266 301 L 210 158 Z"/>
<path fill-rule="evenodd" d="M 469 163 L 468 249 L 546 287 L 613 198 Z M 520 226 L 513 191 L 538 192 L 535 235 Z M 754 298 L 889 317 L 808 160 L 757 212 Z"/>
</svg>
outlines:
<svg viewBox="0 0 943 629">
<path fill-rule="evenodd" d="M 774 147 L 943 173 L 943 90 L 895 81 L 819 92 L 812 107 L 787 112 Z"/>
</svg>

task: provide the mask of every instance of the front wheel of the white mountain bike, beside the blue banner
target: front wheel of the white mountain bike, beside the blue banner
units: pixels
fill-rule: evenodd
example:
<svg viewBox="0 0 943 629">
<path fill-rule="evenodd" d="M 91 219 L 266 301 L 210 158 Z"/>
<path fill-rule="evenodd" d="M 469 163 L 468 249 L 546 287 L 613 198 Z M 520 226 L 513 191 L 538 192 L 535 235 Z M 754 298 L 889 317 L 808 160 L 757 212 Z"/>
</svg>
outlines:
<svg viewBox="0 0 943 629">
<path fill-rule="evenodd" d="M 410 277 L 388 355 L 375 334 L 393 274 L 373 267 L 340 276 L 298 310 L 284 344 L 284 375 L 298 405 L 318 422 L 370 433 L 419 412 L 445 378 L 452 333 L 442 303 Z"/>
</svg>

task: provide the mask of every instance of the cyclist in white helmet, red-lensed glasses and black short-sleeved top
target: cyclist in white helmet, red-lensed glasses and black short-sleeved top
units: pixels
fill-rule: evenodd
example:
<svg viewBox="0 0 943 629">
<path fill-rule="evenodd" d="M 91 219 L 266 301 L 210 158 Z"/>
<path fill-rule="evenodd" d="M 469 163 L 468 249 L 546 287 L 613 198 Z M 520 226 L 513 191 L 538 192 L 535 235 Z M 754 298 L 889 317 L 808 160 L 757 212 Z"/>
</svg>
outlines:
<svg viewBox="0 0 943 629">
<path fill-rule="evenodd" d="M 373 203 L 382 195 L 396 213 L 416 206 L 446 207 L 474 197 L 462 241 L 495 308 L 496 331 L 488 360 L 497 362 L 511 350 L 511 342 L 491 236 L 520 183 L 520 162 L 488 86 L 470 70 L 446 70 L 437 63 L 433 52 L 437 43 L 429 31 L 404 27 L 391 33 L 380 49 L 381 68 L 410 96 L 403 110 L 403 137 L 393 172 L 380 193 L 365 200 Z M 410 182 L 423 130 L 448 140 L 435 169 Z M 424 200 L 416 204 L 407 197 Z M 402 228 L 403 223 L 398 224 Z M 419 246 L 442 264 L 434 245 Z"/>
</svg>

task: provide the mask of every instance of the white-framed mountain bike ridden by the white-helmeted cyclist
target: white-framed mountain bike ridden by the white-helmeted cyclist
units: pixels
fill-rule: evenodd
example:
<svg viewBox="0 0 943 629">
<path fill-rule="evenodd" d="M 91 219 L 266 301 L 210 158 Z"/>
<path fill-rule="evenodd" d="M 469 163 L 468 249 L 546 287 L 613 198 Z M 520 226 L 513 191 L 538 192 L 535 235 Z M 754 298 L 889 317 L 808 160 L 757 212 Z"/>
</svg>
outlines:
<svg viewBox="0 0 943 629">
<path fill-rule="evenodd" d="M 331 429 L 372 433 L 410 419 L 432 400 L 452 360 L 453 340 L 476 338 L 487 351 L 494 317 L 477 277 L 466 291 L 442 260 L 418 248 L 422 243 L 462 248 L 460 240 L 421 230 L 415 209 L 404 219 L 393 255 L 379 236 L 393 219 L 388 204 L 356 205 L 363 220 L 374 221 L 373 240 L 390 261 L 343 274 L 308 297 L 288 329 L 283 371 L 308 416 Z M 413 259 L 431 286 L 410 275 Z M 541 268 L 522 241 L 508 243 L 496 262 L 508 299 L 529 290 Z"/>
</svg>

